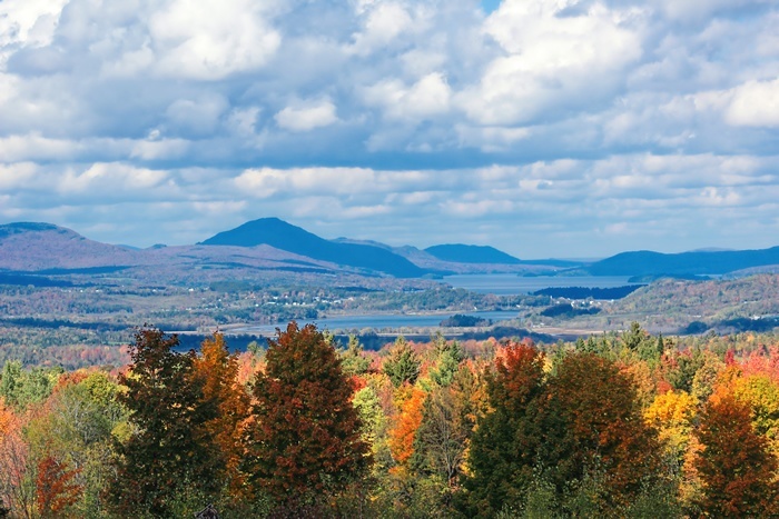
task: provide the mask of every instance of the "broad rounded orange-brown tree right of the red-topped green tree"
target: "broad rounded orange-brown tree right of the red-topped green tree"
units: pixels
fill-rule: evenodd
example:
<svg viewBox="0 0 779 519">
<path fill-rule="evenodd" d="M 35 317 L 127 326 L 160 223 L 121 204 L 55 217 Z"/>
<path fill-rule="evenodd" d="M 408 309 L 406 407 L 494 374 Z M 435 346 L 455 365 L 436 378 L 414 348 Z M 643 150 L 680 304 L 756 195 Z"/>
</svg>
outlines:
<svg viewBox="0 0 779 519">
<path fill-rule="evenodd" d="M 546 386 L 539 463 L 561 497 L 572 482 L 598 482 L 599 510 L 627 505 L 658 468 L 659 443 L 641 416 L 635 388 L 610 360 L 565 356 Z"/>
</svg>

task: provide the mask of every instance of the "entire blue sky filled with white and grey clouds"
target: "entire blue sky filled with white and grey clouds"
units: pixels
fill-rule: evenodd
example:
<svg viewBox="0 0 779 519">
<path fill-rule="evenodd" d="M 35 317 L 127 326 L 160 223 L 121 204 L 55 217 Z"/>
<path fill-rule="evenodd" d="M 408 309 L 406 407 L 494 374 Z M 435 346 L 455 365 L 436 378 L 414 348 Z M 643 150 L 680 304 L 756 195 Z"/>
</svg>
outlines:
<svg viewBox="0 0 779 519">
<path fill-rule="evenodd" d="M 779 244 L 777 0 L 0 0 L 0 223 Z"/>
</svg>

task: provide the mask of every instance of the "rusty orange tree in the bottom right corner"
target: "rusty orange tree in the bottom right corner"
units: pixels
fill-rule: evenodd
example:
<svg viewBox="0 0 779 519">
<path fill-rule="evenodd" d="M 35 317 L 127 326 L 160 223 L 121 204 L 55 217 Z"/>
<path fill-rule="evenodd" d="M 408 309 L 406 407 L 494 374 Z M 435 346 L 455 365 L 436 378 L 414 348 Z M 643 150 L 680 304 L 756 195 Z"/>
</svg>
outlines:
<svg viewBox="0 0 779 519">
<path fill-rule="evenodd" d="M 696 468 L 701 509 L 711 517 L 775 517 L 777 459 L 751 423 L 750 408 L 731 393 L 714 393 L 696 431 L 703 449 Z"/>
</svg>

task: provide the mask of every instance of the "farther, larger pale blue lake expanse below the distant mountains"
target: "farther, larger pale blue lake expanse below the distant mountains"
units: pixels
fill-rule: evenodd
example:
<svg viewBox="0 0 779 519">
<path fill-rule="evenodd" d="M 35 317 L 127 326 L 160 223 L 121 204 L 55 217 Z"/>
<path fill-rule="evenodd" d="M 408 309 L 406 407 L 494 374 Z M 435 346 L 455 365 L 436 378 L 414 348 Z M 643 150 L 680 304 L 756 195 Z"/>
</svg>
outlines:
<svg viewBox="0 0 779 519">
<path fill-rule="evenodd" d="M 614 288 L 631 283 L 628 276 L 520 277 L 513 273 L 446 276 L 444 282 L 479 293 L 517 296 L 550 287 Z"/>
</svg>

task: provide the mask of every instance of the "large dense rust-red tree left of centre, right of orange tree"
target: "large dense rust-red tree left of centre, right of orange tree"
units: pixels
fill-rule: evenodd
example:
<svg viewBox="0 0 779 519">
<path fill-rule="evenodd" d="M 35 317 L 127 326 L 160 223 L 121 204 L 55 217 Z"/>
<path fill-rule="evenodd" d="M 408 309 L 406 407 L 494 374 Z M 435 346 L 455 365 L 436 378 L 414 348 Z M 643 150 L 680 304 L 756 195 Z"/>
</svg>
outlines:
<svg viewBox="0 0 779 519">
<path fill-rule="evenodd" d="M 322 332 L 293 321 L 268 342 L 265 371 L 253 388 L 244 470 L 256 495 L 294 507 L 361 475 L 368 446 L 352 386 Z"/>
</svg>

